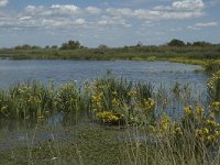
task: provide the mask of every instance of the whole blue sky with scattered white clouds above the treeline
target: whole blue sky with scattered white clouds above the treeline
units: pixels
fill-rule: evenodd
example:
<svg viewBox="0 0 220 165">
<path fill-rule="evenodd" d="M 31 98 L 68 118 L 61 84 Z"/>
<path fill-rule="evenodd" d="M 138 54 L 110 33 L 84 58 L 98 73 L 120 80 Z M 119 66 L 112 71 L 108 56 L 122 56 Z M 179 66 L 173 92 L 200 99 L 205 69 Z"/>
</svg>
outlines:
<svg viewBox="0 0 220 165">
<path fill-rule="evenodd" d="M 220 43 L 220 0 L 0 0 L 0 47 Z"/>
</svg>

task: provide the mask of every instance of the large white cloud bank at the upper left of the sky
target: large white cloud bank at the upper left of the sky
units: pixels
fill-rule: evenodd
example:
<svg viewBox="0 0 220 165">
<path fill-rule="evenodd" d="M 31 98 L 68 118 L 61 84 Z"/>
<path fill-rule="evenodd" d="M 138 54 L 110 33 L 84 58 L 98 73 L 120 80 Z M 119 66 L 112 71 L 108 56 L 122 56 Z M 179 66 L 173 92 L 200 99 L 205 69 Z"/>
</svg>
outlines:
<svg viewBox="0 0 220 165">
<path fill-rule="evenodd" d="M 37 30 L 69 29 L 86 25 L 84 13 L 74 4 L 28 6 L 16 15 L 8 16 L 0 22 L 4 29 Z M 80 14 L 79 14 L 80 13 Z M 86 28 L 86 26 L 84 26 Z"/>
</svg>

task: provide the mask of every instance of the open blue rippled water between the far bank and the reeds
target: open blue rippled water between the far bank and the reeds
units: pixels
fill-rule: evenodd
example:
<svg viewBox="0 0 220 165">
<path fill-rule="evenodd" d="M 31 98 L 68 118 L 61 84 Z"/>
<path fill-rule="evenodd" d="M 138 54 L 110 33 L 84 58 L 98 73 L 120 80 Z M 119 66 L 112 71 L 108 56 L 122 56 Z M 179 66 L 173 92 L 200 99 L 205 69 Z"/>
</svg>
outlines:
<svg viewBox="0 0 220 165">
<path fill-rule="evenodd" d="M 195 73 L 198 69 L 201 67 L 168 62 L 0 61 L 0 88 L 8 88 L 26 79 L 38 79 L 44 84 L 53 79 L 55 86 L 73 79 L 80 84 L 111 70 L 114 76 L 132 81 L 152 82 L 155 87 L 167 87 L 178 81 L 205 89 L 207 76 Z"/>
</svg>

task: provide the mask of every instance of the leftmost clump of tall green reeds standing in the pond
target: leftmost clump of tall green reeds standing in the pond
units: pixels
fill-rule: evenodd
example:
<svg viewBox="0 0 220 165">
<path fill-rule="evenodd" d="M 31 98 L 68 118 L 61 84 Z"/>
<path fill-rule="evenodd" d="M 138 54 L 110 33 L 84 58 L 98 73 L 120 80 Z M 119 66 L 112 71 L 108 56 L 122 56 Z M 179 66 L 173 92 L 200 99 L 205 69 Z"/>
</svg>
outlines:
<svg viewBox="0 0 220 165">
<path fill-rule="evenodd" d="M 52 94 L 38 81 L 26 82 L 10 88 L 4 95 L 10 118 L 44 118 L 52 108 Z"/>
</svg>

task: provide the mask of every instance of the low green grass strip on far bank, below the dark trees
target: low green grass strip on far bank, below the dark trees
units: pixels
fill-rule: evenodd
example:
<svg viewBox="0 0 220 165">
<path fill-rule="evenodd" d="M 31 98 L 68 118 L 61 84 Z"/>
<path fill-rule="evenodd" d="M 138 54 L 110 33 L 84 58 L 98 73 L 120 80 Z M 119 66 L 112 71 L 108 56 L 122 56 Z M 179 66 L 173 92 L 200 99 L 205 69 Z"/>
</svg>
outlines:
<svg viewBox="0 0 220 165">
<path fill-rule="evenodd" d="M 190 59 L 209 61 L 219 58 L 220 46 L 128 46 L 118 48 L 106 48 L 97 52 L 96 48 L 78 50 L 0 50 L 0 57 L 12 59 L 87 59 L 87 61 L 158 61 L 158 59 Z M 186 61 L 187 59 L 187 61 Z"/>
</svg>

